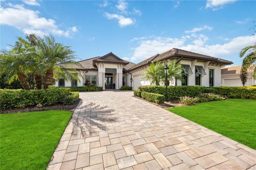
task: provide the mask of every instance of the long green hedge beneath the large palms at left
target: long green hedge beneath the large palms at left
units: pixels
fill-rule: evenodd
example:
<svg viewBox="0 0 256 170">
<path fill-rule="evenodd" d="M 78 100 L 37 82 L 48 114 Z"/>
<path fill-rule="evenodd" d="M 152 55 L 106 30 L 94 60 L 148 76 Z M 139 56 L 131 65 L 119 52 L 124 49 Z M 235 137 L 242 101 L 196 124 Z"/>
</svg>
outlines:
<svg viewBox="0 0 256 170">
<path fill-rule="evenodd" d="M 42 110 L 44 107 L 73 105 L 79 98 L 79 92 L 70 92 L 70 88 L 49 88 L 42 90 L 1 89 L 0 111 L 6 113 L 11 109 L 19 112 L 22 109 Z M 46 108 L 47 108 L 46 107 Z M 28 110 L 29 111 L 29 110 Z"/>
</svg>

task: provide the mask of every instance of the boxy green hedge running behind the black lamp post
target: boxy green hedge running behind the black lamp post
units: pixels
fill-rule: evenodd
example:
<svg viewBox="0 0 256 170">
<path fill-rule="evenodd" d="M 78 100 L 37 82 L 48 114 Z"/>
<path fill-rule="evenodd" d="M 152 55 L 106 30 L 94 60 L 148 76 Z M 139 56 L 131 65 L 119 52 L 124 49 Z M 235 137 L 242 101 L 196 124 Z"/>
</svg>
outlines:
<svg viewBox="0 0 256 170">
<path fill-rule="evenodd" d="M 140 91 L 151 92 L 165 96 L 165 86 L 140 86 Z M 203 86 L 168 86 L 167 100 L 178 99 L 182 96 L 196 97 L 204 92 Z"/>
</svg>

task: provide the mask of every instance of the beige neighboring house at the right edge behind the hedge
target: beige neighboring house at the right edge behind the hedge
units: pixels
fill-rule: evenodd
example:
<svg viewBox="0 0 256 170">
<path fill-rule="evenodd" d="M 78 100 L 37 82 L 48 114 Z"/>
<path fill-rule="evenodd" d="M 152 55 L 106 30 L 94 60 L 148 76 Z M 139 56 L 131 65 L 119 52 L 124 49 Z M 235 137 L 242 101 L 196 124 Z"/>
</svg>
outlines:
<svg viewBox="0 0 256 170">
<path fill-rule="evenodd" d="M 230 66 L 221 68 L 221 86 L 243 86 L 240 79 L 240 71 L 242 66 Z M 252 86 L 256 84 L 256 80 L 252 77 L 253 69 L 249 68 L 248 78 L 245 86 Z"/>
</svg>

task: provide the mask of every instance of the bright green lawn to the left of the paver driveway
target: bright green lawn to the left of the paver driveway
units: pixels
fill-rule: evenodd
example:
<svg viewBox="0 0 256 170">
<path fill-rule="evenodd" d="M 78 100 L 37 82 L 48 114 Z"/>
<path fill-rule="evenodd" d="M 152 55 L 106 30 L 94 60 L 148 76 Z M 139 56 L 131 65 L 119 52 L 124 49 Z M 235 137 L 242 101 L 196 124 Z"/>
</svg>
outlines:
<svg viewBox="0 0 256 170">
<path fill-rule="evenodd" d="M 69 111 L 0 115 L 0 169 L 45 169 L 71 115 Z"/>
</svg>

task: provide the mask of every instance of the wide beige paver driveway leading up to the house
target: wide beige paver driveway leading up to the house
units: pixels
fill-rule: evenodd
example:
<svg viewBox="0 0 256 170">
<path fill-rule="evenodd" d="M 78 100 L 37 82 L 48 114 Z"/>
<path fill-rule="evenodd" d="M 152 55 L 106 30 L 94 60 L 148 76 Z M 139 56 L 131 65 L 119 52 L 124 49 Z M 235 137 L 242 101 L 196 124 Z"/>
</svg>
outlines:
<svg viewBox="0 0 256 170">
<path fill-rule="evenodd" d="M 255 169 L 256 152 L 130 91 L 82 92 L 49 169 Z"/>
</svg>

